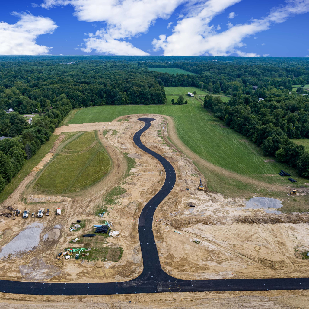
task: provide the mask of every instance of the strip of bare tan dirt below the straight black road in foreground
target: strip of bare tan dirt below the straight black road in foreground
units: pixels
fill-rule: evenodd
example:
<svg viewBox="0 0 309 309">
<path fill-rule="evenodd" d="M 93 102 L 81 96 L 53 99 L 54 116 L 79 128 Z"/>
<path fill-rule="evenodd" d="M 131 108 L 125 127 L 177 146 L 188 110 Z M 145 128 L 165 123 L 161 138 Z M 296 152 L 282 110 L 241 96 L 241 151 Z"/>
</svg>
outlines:
<svg viewBox="0 0 309 309">
<path fill-rule="evenodd" d="M 294 291 L 159 293 L 101 296 L 0 294 L 0 308 L 62 309 L 296 309 L 309 308 L 309 293 Z M 130 303 L 129 303 L 130 302 Z"/>
</svg>

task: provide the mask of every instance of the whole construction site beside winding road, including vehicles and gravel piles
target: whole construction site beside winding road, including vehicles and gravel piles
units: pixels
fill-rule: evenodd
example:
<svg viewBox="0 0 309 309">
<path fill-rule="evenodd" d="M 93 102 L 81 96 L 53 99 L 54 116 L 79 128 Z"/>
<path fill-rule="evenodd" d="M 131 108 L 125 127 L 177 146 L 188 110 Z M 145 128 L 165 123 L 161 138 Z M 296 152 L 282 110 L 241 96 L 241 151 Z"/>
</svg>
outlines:
<svg viewBox="0 0 309 309">
<path fill-rule="evenodd" d="M 51 152 L 2 203 L 0 279 L 115 282 L 142 273 L 138 220 L 166 175 L 161 163 L 133 142 L 142 127 L 140 116 L 145 115 L 55 130 L 59 137 Z M 293 196 L 307 195 L 306 189 L 283 188 L 284 200 L 211 192 L 197 168 L 202 160 L 197 162 L 177 138 L 173 120 L 146 116 L 155 121 L 142 134 L 142 143 L 167 159 L 176 172 L 175 186 L 155 211 L 152 227 L 165 273 L 184 280 L 309 277 L 309 214 L 280 211 Z M 40 177 L 80 132 L 97 134 L 111 159 L 108 172 L 81 190 L 42 194 Z M 270 185 L 269 190 L 275 189 Z M 260 297 L 258 292 L 255 297 Z M 184 298 L 172 299 L 182 303 Z M 125 299 L 129 298 L 119 296 L 119 302 Z"/>
</svg>

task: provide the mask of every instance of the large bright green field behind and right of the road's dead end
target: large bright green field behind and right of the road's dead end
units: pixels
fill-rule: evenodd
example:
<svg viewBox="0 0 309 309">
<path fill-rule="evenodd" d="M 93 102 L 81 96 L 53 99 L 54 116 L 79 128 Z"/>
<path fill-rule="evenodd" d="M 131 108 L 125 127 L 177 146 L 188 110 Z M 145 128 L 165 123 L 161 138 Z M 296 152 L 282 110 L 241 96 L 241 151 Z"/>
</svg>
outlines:
<svg viewBox="0 0 309 309">
<path fill-rule="evenodd" d="M 68 124 L 112 121 L 120 116 L 141 113 L 173 117 L 180 140 L 202 159 L 218 167 L 268 184 L 290 185 L 287 178 L 278 175 L 281 169 L 289 171 L 298 180 L 298 185 L 307 181 L 297 177 L 297 173 L 293 169 L 275 162 L 274 158 L 263 156 L 259 147 L 245 140 L 234 130 L 226 128 L 222 121 L 214 118 L 195 98 L 188 97 L 186 105 L 126 105 L 84 108 L 78 110 L 74 117 L 68 121 Z M 196 164 L 205 179 L 208 180 L 210 190 L 234 195 L 240 192 L 251 195 L 256 191 L 256 185 L 246 181 L 228 179 L 216 171 Z M 237 188 L 237 192 L 235 192 L 235 188 Z M 269 194 L 269 189 L 266 188 L 265 192 L 267 192 L 265 194 Z M 273 193 L 271 194 L 274 196 Z"/>
</svg>

